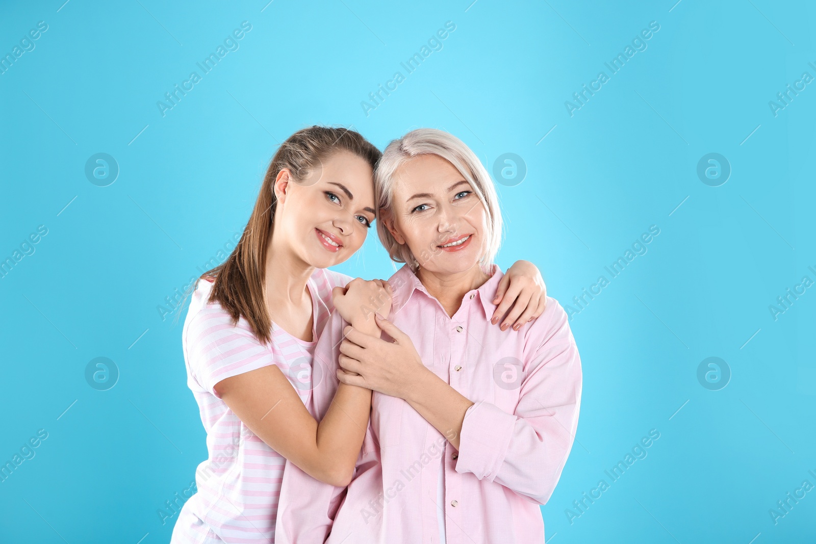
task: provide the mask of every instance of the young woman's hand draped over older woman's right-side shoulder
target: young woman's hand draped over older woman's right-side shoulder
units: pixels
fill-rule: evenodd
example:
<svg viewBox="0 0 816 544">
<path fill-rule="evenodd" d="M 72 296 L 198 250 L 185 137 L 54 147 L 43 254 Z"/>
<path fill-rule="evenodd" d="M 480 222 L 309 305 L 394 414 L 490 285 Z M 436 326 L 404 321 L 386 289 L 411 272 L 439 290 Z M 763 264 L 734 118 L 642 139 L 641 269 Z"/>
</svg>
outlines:
<svg viewBox="0 0 816 544">
<path fill-rule="evenodd" d="M 544 285 L 541 272 L 533 263 L 516 261 L 499 281 L 499 289 L 496 290 L 492 302 L 499 306 L 493 312 L 490 323 L 495 325 L 510 310 L 502 321 L 501 329 L 507 330 L 512 325 L 514 330 L 518 330 L 544 311 L 547 303 L 547 285 Z"/>
</svg>

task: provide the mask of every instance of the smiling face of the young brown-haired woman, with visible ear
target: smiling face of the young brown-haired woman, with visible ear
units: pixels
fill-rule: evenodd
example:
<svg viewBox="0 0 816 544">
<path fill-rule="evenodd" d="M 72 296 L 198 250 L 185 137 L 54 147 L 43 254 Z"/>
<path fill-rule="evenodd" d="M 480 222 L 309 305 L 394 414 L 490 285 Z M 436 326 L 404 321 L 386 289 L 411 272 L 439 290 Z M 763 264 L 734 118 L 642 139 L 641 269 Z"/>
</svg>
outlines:
<svg viewBox="0 0 816 544">
<path fill-rule="evenodd" d="M 345 151 L 324 158 L 299 182 L 282 170 L 275 182 L 275 227 L 304 262 L 328 268 L 360 249 L 375 218 L 374 172 Z"/>
</svg>

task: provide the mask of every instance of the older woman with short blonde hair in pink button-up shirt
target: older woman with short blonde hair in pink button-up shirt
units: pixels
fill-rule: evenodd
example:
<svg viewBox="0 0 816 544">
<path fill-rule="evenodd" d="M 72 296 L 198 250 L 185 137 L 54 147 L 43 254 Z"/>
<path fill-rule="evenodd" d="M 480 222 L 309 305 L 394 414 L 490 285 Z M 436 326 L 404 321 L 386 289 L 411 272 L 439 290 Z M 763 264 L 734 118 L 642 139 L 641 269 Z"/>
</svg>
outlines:
<svg viewBox="0 0 816 544">
<path fill-rule="evenodd" d="M 581 397 L 567 316 L 548 299 L 520 329 L 490 326 L 502 222 L 459 139 L 420 129 L 393 141 L 375 190 L 380 240 L 406 263 L 388 280 L 390 320 L 377 321 L 392 342 L 335 318 L 315 352 L 316 364 L 339 362 L 340 387 L 375 391 L 370 427 L 347 489 L 287 465 L 277 542 L 544 542 L 539 505 L 570 453 Z M 335 387 L 316 387 L 318 417 Z"/>
</svg>

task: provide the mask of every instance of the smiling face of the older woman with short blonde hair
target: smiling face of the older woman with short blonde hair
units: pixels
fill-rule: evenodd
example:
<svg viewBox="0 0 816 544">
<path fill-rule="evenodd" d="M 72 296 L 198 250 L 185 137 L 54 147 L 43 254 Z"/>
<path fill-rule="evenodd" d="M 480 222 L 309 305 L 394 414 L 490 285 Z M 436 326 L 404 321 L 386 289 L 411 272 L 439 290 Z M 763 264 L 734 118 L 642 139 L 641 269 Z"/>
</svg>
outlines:
<svg viewBox="0 0 816 544">
<path fill-rule="evenodd" d="M 392 196 L 384 222 L 420 267 L 455 274 L 477 265 L 486 250 L 487 210 L 449 161 L 410 159 L 395 173 Z"/>
</svg>

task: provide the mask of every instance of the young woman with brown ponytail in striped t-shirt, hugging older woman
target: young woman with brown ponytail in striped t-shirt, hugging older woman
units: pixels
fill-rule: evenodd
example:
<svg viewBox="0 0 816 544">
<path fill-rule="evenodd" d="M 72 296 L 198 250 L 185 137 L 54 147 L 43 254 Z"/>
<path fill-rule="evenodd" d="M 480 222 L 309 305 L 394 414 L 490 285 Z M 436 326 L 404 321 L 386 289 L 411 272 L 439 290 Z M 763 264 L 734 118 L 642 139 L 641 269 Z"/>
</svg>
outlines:
<svg viewBox="0 0 816 544">
<path fill-rule="evenodd" d="M 171 542 L 273 542 L 285 463 L 345 485 L 370 413 L 371 391 L 341 385 L 318 422 L 309 413 L 313 352 L 330 313 L 379 337 L 383 281 L 326 268 L 359 249 L 375 219 L 381 153 L 353 130 L 313 126 L 286 139 L 264 177 L 241 240 L 197 282 L 183 329 L 188 386 L 207 432 Z M 505 325 L 538 316 L 543 281 L 520 263 L 495 312 Z M 332 297 L 332 294 L 334 297 Z M 496 327 L 499 329 L 499 327 Z"/>
</svg>

